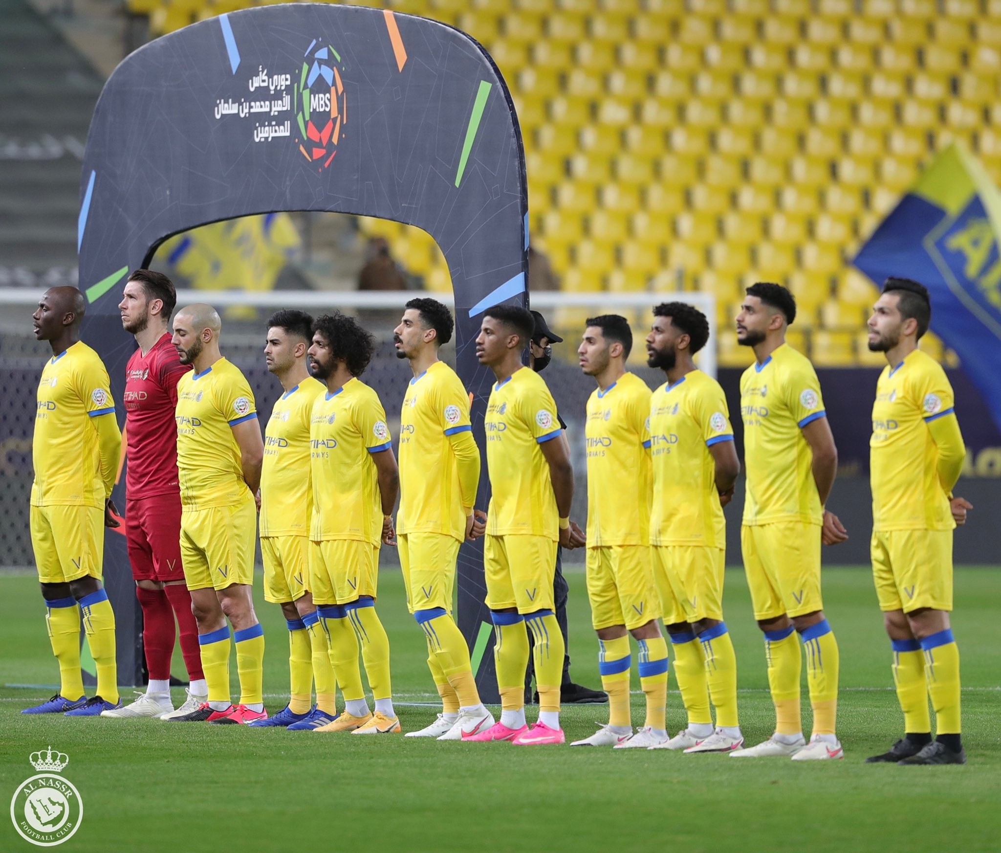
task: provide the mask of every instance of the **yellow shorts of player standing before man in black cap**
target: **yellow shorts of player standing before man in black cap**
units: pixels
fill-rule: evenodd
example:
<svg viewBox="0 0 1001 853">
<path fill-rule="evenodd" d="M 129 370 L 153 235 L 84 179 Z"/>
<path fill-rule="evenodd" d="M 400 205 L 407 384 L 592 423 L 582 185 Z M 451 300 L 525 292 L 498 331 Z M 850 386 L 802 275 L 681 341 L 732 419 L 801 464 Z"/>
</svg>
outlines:
<svg viewBox="0 0 1001 853">
<path fill-rule="evenodd" d="M 545 536 L 486 536 L 483 574 L 486 607 L 519 613 L 555 610 L 557 543 Z"/>
</svg>

